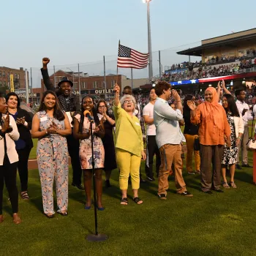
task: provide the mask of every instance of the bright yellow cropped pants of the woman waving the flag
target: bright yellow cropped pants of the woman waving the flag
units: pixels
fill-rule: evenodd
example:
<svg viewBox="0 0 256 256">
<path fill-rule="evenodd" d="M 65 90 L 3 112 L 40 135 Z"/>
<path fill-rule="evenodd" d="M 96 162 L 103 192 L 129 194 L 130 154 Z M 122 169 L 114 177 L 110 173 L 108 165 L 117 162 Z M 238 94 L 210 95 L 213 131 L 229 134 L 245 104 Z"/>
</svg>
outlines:
<svg viewBox="0 0 256 256">
<path fill-rule="evenodd" d="M 132 179 L 132 189 L 140 188 L 140 157 L 120 148 L 116 148 L 116 163 L 120 170 L 120 189 L 128 189 L 129 175 Z"/>
</svg>

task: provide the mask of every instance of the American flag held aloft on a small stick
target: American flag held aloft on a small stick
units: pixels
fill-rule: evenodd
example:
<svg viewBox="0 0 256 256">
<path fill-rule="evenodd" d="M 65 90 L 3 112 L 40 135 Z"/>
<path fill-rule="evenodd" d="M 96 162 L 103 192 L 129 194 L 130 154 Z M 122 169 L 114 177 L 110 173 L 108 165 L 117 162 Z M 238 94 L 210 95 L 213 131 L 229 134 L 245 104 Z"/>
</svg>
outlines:
<svg viewBox="0 0 256 256">
<path fill-rule="evenodd" d="M 139 53 L 124 45 L 119 45 L 117 67 L 144 69 L 148 66 L 148 53 Z"/>
</svg>

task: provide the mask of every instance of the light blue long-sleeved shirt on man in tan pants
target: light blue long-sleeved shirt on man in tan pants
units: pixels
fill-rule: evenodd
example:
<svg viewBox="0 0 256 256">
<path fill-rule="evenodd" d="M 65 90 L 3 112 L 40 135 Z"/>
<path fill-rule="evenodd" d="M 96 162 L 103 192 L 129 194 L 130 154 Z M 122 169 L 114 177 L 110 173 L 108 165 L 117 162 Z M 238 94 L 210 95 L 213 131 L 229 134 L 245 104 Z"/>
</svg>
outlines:
<svg viewBox="0 0 256 256">
<path fill-rule="evenodd" d="M 154 125 L 157 128 L 158 148 L 165 144 L 178 145 L 181 141 L 186 141 L 178 124 L 182 119 L 181 110 L 173 110 L 165 99 L 157 98 L 154 104 Z"/>
</svg>

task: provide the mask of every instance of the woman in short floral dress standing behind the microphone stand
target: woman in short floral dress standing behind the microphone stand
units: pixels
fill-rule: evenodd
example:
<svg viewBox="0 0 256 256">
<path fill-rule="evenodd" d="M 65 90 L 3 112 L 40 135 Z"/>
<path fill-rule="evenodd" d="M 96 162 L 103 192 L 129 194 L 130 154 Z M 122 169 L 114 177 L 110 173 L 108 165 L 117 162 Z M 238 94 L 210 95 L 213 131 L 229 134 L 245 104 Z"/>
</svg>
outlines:
<svg viewBox="0 0 256 256">
<path fill-rule="evenodd" d="M 91 152 L 91 129 L 90 121 L 83 114 L 77 114 L 74 118 L 74 137 L 80 140 L 80 165 L 83 170 L 83 181 L 86 189 L 86 210 L 91 208 L 91 178 L 92 178 L 92 157 L 95 163 L 95 178 L 96 178 L 96 191 L 97 191 L 97 208 L 103 211 L 105 208 L 102 206 L 102 169 L 104 168 L 105 151 L 102 143 L 102 138 L 105 135 L 104 124 L 102 116 L 97 114 L 94 108 L 94 99 L 89 96 L 83 97 L 81 112 L 89 111 L 91 117 L 94 118 L 93 129 L 93 144 L 94 156 Z"/>
</svg>

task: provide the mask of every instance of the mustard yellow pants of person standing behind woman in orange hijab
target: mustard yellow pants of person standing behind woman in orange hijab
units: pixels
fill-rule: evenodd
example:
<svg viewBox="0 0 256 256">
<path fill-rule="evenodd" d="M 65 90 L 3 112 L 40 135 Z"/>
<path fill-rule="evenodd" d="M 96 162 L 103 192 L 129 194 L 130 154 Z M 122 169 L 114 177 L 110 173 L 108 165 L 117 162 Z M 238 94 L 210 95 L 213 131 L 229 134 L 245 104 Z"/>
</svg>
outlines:
<svg viewBox="0 0 256 256">
<path fill-rule="evenodd" d="M 199 151 L 194 151 L 194 141 L 197 135 L 184 135 L 187 143 L 187 157 L 186 157 L 186 166 L 187 171 L 191 172 L 192 169 L 192 158 L 193 152 L 195 156 L 195 170 L 200 170 L 200 153 Z"/>
</svg>

